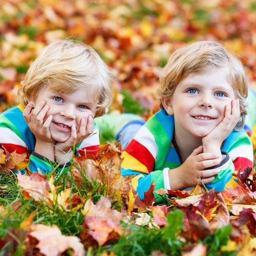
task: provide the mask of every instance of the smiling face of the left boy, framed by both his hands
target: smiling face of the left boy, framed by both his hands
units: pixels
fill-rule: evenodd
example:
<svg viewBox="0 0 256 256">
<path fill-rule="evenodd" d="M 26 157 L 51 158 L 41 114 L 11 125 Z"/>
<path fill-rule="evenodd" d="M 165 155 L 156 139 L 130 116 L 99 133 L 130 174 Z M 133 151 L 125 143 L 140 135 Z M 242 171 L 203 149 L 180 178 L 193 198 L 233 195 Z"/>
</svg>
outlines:
<svg viewBox="0 0 256 256">
<path fill-rule="evenodd" d="M 46 100 L 49 110 L 44 117 L 44 122 L 49 115 L 52 115 L 52 122 L 49 126 L 52 138 L 57 142 L 65 142 L 71 135 L 71 125 L 76 125 L 78 132 L 82 117 L 85 118 L 85 122 L 88 116 L 94 118 L 96 108 L 87 99 L 87 89 L 78 89 L 73 93 L 63 94 L 48 90 L 48 88 L 47 85 L 41 89 L 34 105 L 37 106 L 42 100 Z M 58 123 L 68 127 L 60 127 Z"/>
</svg>

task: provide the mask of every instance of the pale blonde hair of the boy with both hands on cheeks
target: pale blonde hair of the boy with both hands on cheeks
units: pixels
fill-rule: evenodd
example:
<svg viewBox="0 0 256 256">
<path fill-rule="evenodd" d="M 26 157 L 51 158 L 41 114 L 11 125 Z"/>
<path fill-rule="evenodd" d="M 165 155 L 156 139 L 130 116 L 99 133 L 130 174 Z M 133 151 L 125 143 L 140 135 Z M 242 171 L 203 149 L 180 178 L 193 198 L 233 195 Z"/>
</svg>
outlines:
<svg viewBox="0 0 256 256">
<path fill-rule="evenodd" d="M 113 99 L 111 70 L 91 47 L 70 39 L 45 47 L 21 84 L 18 95 L 24 107 L 46 84 L 65 94 L 88 89 L 87 98 L 96 104 L 95 117 L 102 116 Z"/>
</svg>

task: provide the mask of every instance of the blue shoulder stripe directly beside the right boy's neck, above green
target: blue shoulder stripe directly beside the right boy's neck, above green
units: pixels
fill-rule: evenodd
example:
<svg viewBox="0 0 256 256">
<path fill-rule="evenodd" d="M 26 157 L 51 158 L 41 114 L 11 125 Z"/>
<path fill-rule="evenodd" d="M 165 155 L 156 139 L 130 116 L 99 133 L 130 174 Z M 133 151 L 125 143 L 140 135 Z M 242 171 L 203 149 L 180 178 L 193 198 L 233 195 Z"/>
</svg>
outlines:
<svg viewBox="0 0 256 256">
<path fill-rule="evenodd" d="M 169 115 L 165 110 L 160 110 L 155 114 L 157 120 L 162 125 L 169 141 L 172 141 L 172 136 L 174 132 L 174 117 Z"/>
</svg>

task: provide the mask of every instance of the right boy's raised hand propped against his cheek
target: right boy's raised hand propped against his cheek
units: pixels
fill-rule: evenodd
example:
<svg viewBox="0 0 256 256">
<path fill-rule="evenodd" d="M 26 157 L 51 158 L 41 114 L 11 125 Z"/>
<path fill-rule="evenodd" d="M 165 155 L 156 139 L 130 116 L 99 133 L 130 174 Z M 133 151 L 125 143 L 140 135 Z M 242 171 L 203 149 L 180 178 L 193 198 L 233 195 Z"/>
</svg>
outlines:
<svg viewBox="0 0 256 256">
<path fill-rule="evenodd" d="M 233 99 L 231 105 L 232 108 L 230 105 L 225 106 L 224 119 L 207 136 L 203 137 L 204 152 L 214 153 L 216 148 L 220 150 L 221 143 L 227 139 L 237 125 L 240 117 L 239 99 Z"/>
</svg>

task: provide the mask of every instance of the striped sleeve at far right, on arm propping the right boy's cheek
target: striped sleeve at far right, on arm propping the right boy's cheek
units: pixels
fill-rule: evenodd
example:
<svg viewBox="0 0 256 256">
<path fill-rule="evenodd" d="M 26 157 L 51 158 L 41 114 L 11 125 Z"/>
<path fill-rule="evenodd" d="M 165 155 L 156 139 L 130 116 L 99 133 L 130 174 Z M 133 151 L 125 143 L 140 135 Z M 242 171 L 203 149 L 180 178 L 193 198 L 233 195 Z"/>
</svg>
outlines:
<svg viewBox="0 0 256 256">
<path fill-rule="evenodd" d="M 222 191 L 225 188 L 237 186 L 237 171 L 241 167 L 241 172 L 245 167 L 253 167 L 253 145 L 244 130 L 233 131 L 224 141 L 221 148 L 223 160 L 218 166 L 209 169 L 221 169 L 215 180 L 207 184 L 208 189 Z"/>
</svg>

